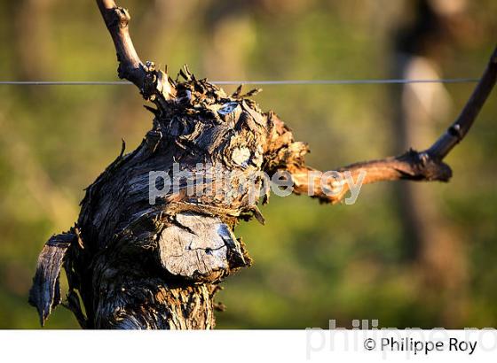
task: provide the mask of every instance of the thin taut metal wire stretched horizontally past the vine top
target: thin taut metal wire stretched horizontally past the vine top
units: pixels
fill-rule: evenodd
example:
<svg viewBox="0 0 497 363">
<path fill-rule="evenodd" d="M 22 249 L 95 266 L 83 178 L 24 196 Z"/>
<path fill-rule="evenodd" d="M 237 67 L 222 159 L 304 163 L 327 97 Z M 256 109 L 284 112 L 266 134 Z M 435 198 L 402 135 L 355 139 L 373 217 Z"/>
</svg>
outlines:
<svg viewBox="0 0 497 363">
<path fill-rule="evenodd" d="M 342 84 L 408 84 L 408 83 L 474 83 L 477 78 L 447 78 L 439 80 L 284 80 L 284 81 L 211 81 L 218 85 L 342 85 Z M 0 85 L 11 86 L 122 86 L 130 81 L 0 81 Z"/>
</svg>

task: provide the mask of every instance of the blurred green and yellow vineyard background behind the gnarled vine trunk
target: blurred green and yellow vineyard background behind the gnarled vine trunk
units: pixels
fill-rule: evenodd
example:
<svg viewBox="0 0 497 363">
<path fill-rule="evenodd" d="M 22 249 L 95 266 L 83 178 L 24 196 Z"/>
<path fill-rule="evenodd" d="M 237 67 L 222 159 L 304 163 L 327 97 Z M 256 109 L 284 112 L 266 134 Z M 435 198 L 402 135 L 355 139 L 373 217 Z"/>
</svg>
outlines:
<svg viewBox="0 0 497 363">
<path fill-rule="evenodd" d="M 118 3 L 130 9 L 140 57 L 167 64 L 173 77 L 187 63 L 210 80 L 374 79 L 404 76 L 406 54 L 444 78 L 479 77 L 497 34 L 493 0 Z M 0 42 L 2 81 L 116 79 L 113 44 L 91 1 L 0 0 Z M 473 88 L 265 86 L 256 101 L 310 144 L 310 165 L 333 170 L 412 140 L 430 145 Z M 410 117 L 419 95 L 430 97 L 430 110 Z M 73 225 L 83 188 L 114 160 L 121 138 L 128 151 L 140 143 L 152 121 L 142 104 L 132 86 L 0 85 L 0 328 L 38 328 L 27 302 L 37 254 Z M 327 327 L 330 319 L 497 326 L 496 115 L 494 92 L 447 158 L 449 184 L 371 185 L 355 205 L 272 197 L 265 226 L 236 230 L 255 263 L 224 283 L 217 328 Z M 403 205 L 406 193 L 416 208 Z M 47 328 L 77 323 L 59 307 Z"/>
</svg>

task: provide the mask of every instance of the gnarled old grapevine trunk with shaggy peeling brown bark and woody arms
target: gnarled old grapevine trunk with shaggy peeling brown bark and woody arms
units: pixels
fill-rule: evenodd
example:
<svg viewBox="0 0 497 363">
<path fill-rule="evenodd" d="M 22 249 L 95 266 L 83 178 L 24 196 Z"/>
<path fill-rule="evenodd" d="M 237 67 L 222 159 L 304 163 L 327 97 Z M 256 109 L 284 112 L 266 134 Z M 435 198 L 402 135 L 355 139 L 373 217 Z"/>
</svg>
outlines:
<svg viewBox="0 0 497 363">
<path fill-rule="evenodd" d="M 69 284 L 66 305 L 83 328 L 211 328 L 219 282 L 250 264 L 233 229 L 241 219 L 264 221 L 248 193 L 227 199 L 218 192 L 248 190 L 252 180 L 259 187 L 262 170 L 290 172 L 296 193 L 304 192 L 309 187 L 305 176 L 312 170 L 304 164 L 307 146 L 295 142 L 273 112 L 258 108 L 249 98 L 254 92 L 241 95 L 240 88 L 226 95 L 187 68 L 180 72 L 183 81 L 172 81 L 152 63 L 143 64 L 130 41 L 129 13 L 114 1 L 98 4 L 117 50 L 119 76 L 154 102 L 156 108 L 149 108 L 154 126 L 137 150 L 125 155 L 123 145 L 121 155 L 86 190 L 75 227 L 47 243 L 30 302 L 43 324 L 60 302 L 63 266 Z M 493 82 L 495 67 L 494 54 Z M 489 91 L 490 82 L 483 82 Z M 438 152 L 408 151 L 347 169 L 352 174 L 366 170 L 366 182 L 446 181 L 450 169 L 442 158 Z M 205 163 L 229 174 L 228 184 L 218 185 Z M 149 173 L 172 174 L 175 165 L 191 172 L 194 188 L 205 193 L 190 195 L 185 178 L 177 192 L 150 204 Z M 318 190 L 317 197 L 337 202 L 343 194 L 327 197 Z"/>
</svg>

